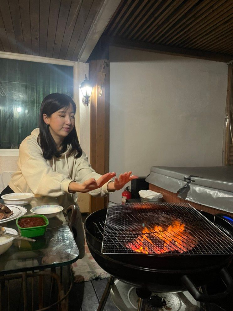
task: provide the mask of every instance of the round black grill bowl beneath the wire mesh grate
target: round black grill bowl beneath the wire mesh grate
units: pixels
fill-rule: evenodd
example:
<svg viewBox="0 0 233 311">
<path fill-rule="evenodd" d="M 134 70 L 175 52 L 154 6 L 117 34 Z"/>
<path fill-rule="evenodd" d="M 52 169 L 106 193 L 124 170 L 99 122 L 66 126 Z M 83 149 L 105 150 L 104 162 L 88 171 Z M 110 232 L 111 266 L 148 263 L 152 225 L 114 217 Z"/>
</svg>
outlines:
<svg viewBox="0 0 233 311">
<path fill-rule="evenodd" d="M 196 286 L 206 284 L 223 267 L 232 255 L 145 255 L 101 253 L 102 239 L 93 222 L 106 217 L 107 209 L 93 212 L 85 222 L 88 248 L 96 262 L 110 275 L 136 288 L 151 292 L 180 292 L 186 290 L 182 277 L 188 277 Z"/>
</svg>

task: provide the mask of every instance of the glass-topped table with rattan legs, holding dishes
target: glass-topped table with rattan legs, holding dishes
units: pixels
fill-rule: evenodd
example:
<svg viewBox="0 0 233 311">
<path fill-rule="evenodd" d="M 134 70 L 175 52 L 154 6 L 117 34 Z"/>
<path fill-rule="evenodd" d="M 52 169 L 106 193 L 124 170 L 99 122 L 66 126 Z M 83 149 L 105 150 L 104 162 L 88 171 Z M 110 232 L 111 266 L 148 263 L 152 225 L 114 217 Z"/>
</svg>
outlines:
<svg viewBox="0 0 233 311">
<path fill-rule="evenodd" d="M 0 203 L 4 203 L 3 200 L 0 200 Z M 24 206 L 27 209 L 25 215 L 33 215 L 33 213 L 30 212 L 30 209 L 34 206 L 44 204 L 58 204 L 58 202 L 56 198 L 52 197 L 33 198 L 30 204 Z M 63 212 L 60 212 L 56 217 L 49 219 L 49 225 L 45 235 L 36 237 L 36 242 L 14 239 L 13 245 L 4 254 L 0 255 L 0 280 L 2 283 L 6 280 L 9 281 L 19 278 L 19 272 L 21 272 L 20 277 L 23 282 L 25 310 L 27 310 L 27 279 L 29 277 L 33 278 L 34 276 L 39 276 L 39 287 L 40 284 L 41 286 L 43 285 L 43 282 L 41 281 L 43 277 L 49 276 L 54 278 L 61 292 L 56 304 L 61 303 L 62 300 L 64 302 L 72 287 L 72 282 L 70 281 L 70 265 L 78 259 L 79 250 L 68 226 L 67 218 L 64 216 Z M 16 219 L 0 225 L 18 231 Z M 66 295 L 62 288 L 62 266 L 67 266 L 68 272 L 66 276 Z M 60 267 L 59 276 L 56 274 L 56 267 Z M 50 270 L 45 271 L 47 268 L 50 268 Z M 29 273 L 28 271 L 32 272 Z M 39 288 L 39 292 L 40 289 L 41 288 Z M 43 297 L 39 300 L 43 302 Z M 66 301 L 67 300 L 68 299 L 66 299 Z M 39 304 L 39 309 L 40 308 L 43 308 L 43 303 Z M 65 305 L 63 304 L 63 307 L 62 305 L 59 305 L 59 308 L 67 310 L 67 302 Z"/>
</svg>

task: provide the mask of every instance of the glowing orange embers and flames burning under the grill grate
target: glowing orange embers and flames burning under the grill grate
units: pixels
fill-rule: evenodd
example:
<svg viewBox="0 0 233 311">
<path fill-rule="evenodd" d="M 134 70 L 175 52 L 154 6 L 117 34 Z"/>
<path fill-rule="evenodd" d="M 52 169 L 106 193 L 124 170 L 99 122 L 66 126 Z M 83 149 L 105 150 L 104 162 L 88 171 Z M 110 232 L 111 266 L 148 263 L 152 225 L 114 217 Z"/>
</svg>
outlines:
<svg viewBox="0 0 233 311">
<path fill-rule="evenodd" d="M 185 231 L 185 225 L 175 220 L 167 229 L 155 225 L 144 227 L 142 233 L 126 247 L 138 253 L 162 254 L 175 251 L 183 253 L 196 245 L 195 239 Z"/>
</svg>

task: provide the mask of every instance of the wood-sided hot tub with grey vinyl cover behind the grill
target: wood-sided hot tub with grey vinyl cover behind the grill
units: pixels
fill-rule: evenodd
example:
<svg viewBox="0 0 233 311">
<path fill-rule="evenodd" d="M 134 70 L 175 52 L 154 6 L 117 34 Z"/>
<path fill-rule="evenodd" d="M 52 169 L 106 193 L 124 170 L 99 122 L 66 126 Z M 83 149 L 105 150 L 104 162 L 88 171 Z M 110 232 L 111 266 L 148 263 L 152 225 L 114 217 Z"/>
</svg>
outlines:
<svg viewBox="0 0 233 311">
<path fill-rule="evenodd" d="M 233 166 L 152 166 L 146 181 L 167 202 L 187 200 L 206 212 L 233 213 Z"/>
</svg>

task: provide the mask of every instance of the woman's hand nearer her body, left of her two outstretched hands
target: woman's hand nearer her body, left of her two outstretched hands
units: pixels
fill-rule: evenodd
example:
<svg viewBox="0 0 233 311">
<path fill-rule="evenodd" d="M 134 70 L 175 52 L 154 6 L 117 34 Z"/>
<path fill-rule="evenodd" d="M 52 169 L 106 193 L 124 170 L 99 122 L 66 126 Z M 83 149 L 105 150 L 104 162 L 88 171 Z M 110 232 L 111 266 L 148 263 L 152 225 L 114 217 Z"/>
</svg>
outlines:
<svg viewBox="0 0 233 311">
<path fill-rule="evenodd" d="M 69 184 L 69 192 L 89 192 L 98 188 L 101 188 L 106 182 L 116 176 L 116 173 L 107 173 L 101 176 L 99 179 L 95 180 L 90 178 L 84 181 L 82 184 L 77 183 L 76 181 L 71 181 Z"/>
</svg>

